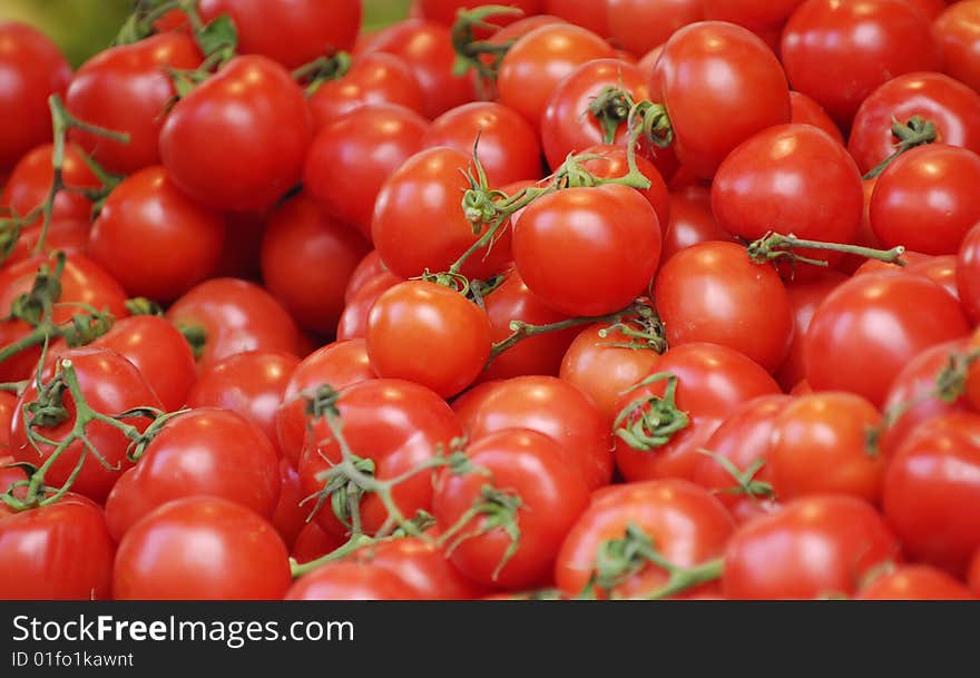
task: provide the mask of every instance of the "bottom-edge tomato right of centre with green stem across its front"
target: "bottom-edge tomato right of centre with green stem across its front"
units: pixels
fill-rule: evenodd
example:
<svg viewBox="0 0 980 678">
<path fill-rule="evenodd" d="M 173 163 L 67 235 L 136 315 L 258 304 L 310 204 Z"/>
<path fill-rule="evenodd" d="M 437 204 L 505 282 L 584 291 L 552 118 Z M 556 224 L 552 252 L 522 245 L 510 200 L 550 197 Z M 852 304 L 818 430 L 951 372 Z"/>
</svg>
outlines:
<svg viewBox="0 0 980 678">
<path fill-rule="evenodd" d="M 717 499 L 683 480 L 657 480 L 615 485 L 594 493 L 591 505 L 568 532 L 555 566 L 555 582 L 568 596 L 591 587 L 602 574 L 598 556 L 609 542 L 628 539 L 633 527 L 643 532 L 657 552 L 679 568 L 694 568 L 718 558 L 734 531 L 732 517 Z M 667 584 L 668 573 L 660 567 L 639 560 L 616 577 L 611 590 L 596 587 L 600 597 L 643 598 Z M 614 583 L 614 582 L 610 582 Z M 686 596 L 713 590 L 703 584 Z"/>
</svg>

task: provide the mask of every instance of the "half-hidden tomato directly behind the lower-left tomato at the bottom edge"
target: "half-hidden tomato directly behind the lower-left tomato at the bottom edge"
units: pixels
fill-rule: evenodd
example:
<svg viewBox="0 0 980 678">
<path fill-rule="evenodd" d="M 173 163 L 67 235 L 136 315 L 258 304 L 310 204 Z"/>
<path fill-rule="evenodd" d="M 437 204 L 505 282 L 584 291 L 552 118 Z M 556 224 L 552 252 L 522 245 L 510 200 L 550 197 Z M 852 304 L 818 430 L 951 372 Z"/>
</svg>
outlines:
<svg viewBox="0 0 980 678">
<path fill-rule="evenodd" d="M 216 407 L 167 422 L 106 500 L 117 542 L 144 515 L 184 497 L 220 497 L 271 517 L 280 498 L 275 449 L 245 417 Z"/>
</svg>

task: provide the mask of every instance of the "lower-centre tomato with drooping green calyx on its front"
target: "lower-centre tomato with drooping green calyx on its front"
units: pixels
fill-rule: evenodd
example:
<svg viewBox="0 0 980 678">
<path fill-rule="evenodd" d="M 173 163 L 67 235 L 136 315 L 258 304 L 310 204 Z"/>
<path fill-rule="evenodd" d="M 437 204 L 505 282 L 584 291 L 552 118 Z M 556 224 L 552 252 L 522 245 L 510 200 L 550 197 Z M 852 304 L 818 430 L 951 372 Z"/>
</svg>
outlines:
<svg viewBox="0 0 980 678">
<path fill-rule="evenodd" d="M 481 438 L 467 456 L 478 470 L 443 470 L 432 500 L 437 523 L 459 530 L 447 546 L 450 561 L 487 587 L 549 583 L 565 535 L 589 504 L 581 474 L 562 463 L 555 440 L 530 430 Z M 467 518 L 471 509 L 477 515 Z"/>
</svg>

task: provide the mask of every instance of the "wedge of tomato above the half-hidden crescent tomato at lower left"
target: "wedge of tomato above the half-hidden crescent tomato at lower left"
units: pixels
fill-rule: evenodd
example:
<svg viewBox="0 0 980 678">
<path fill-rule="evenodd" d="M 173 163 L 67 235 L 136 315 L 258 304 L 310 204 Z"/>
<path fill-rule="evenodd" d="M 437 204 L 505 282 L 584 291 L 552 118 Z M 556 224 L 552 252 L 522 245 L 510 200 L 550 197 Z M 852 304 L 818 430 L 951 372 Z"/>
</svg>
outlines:
<svg viewBox="0 0 980 678">
<path fill-rule="evenodd" d="M 258 426 L 278 451 L 276 412 L 298 365 L 300 358 L 291 353 L 231 355 L 200 374 L 187 395 L 187 405 L 231 410 Z"/>
</svg>

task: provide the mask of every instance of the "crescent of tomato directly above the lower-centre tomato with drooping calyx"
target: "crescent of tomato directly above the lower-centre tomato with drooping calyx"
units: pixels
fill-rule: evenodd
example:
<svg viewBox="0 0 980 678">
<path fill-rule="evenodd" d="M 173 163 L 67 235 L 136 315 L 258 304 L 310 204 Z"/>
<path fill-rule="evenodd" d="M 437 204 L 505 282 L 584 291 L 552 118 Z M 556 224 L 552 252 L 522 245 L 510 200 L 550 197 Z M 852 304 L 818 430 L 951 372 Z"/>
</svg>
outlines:
<svg viewBox="0 0 980 678">
<path fill-rule="evenodd" d="M 457 412 L 470 440 L 507 429 L 537 431 L 560 444 L 589 489 L 608 484 L 612 476 L 607 422 L 585 394 L 560 379 L 519 376 L 490 382 L 472 406 Z"/>
</svg>

